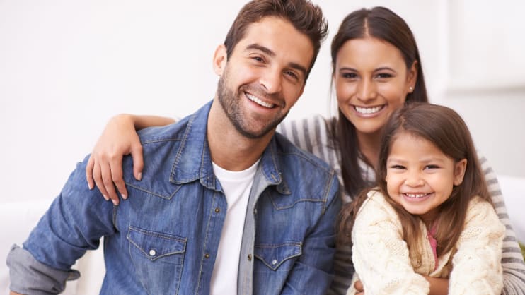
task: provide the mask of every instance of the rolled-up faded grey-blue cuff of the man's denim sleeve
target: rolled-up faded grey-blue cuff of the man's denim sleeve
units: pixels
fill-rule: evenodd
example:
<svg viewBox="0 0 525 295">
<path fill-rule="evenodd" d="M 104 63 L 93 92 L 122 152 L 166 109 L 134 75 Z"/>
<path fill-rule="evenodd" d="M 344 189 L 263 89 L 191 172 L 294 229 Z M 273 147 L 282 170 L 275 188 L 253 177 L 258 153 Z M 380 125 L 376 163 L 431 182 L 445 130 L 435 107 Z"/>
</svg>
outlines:
<svg viewBox="0 0 525 295">
<path fill-rule="evenodd" d="M 6 259 L 11 284 L 20 294 L 49 295 L 64 291 L 66 281 L 78 279 L 78 270 L 57 270 L 38 262 L 31 253 L 17 245 L 11 246 Z"/>
</svg>

